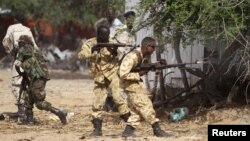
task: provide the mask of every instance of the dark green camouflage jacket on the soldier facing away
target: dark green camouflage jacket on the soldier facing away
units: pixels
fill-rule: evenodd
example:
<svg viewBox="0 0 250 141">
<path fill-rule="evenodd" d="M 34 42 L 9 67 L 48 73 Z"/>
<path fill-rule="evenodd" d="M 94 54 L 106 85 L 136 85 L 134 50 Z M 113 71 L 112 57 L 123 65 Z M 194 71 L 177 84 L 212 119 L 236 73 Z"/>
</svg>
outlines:
<svg viewBox="0 0 250 141">
<path fill-rule="evenodd" d="M 47 62 L 32 45 L 26 44 L 20 46 L 17 53 L 17 60 L 21 62 L 20 67 L 31 82 L 40 78 L 49 80 Z"/>
</svg>

